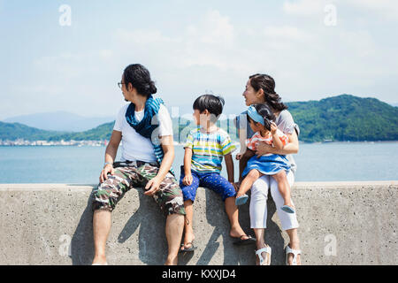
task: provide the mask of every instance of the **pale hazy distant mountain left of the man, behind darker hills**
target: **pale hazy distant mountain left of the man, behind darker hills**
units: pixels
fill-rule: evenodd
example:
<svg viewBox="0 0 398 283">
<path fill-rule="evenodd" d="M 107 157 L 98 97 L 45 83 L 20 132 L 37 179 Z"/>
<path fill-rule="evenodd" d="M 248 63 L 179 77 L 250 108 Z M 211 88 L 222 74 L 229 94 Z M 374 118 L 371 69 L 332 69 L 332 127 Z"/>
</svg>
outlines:
<svg viewBox="0 0 398 283">
<path fill-rule="evenodd" d="M 48 131 L 82 132 L 110 122 L 114 117 L 82 117 L 70 112 L 57 111 L 22 115 L 4 119 L 6 123 L 19 123 Z"/>
</svg>

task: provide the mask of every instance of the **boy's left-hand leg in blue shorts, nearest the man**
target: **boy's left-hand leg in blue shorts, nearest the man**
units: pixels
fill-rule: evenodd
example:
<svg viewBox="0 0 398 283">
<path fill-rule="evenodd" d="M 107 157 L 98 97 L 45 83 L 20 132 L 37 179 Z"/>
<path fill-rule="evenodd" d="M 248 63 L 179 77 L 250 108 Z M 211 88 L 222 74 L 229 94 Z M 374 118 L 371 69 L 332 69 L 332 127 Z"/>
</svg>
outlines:
<svg viewBox="0 0 398 283">
<path fill-rule="evenodd" d="M 192 184 L 186 186 L 183 184 L 182 180 L 184 179 L 185 174 L 184 170 L 181 169 L 180 174 L 180 187 L 182 190 L 182 195 L 184 196 L 184 208 L 185 208 L 185 222 L 184 222 L 184 245 L 180 248 L 189 249 L 192 247 L 192 242 L 195 240 L 195 233 L 194 233 L 194 226 L 193 226 L 193 219 L 194 219 L 194 201 L 196 190 L 199 187 L 199 178 L 195 174 L 192 173 Z M 190 244 L 189 244 L 190 243 Z"/>
</svg>

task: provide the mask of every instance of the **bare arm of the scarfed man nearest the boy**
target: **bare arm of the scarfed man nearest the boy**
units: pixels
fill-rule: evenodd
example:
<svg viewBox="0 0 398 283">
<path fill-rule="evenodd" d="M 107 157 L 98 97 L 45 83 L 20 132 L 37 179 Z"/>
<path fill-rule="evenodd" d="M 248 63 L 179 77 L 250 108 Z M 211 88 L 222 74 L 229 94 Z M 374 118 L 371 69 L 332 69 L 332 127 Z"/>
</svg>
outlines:
<svg viewBox="0 0 398 283">
<path fill-rule="evenodd" d="M 161 139 L 164 157 L 162 164 L 160 164 L 159 171 L 155 178 L 149 180 L 145 189 L 147 190 L 144 195 L 154 195 L 160 187 L 160 183 L 165 180 L 165 176 L 172 168 L 172 161 L 174 160 L 174 145 L 172 144 L 172 135 L 162 136 Z"/>
</svg>

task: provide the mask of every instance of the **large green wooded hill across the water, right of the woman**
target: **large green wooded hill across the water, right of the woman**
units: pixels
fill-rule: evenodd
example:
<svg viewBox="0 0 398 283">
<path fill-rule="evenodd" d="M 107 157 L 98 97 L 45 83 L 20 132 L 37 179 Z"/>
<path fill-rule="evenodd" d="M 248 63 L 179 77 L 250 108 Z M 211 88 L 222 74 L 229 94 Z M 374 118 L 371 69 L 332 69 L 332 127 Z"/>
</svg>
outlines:
<svg viewBox="0 0 398 283">
<path fill-rule="evenodd" d="M 300 126 L 300 141 L 397 141 L 398 108 L 350 95 L 287 103 Z"/>
</svg>

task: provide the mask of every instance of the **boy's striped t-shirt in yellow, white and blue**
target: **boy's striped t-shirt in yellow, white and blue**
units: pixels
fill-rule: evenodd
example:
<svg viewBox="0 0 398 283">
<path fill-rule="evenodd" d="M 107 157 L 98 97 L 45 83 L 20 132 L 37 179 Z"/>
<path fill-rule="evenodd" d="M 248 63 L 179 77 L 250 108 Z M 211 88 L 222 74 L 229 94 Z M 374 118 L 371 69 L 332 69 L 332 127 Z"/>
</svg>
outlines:
<svg viewBox="0 0 398 283">
<path fill-rule="evenodd" d="M 189 132 L 185 148 L 192 149 L 191 170 L 218 173 L 221 172 L 223 157 L 236 149 L 223 129 L 206 133 L 199 127 Z"/>
</svg>

